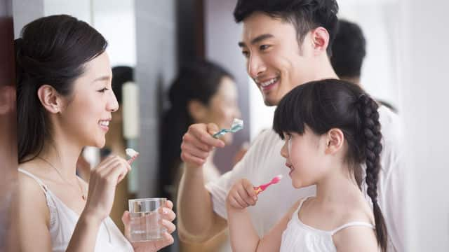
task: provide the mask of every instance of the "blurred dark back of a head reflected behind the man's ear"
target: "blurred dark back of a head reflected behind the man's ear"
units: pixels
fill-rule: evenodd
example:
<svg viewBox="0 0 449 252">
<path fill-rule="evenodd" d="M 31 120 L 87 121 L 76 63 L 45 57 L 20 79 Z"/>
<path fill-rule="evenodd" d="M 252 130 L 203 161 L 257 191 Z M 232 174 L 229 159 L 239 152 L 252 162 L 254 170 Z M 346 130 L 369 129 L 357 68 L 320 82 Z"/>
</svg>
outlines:
<svg viewBox="0 0 449 252">
<path fill-rule="evenodd" d="M 362 29 L 347 20 L 340 20 L 330 58 L 340 78 L 359 78 L 366 55 L 366 40 Z"/>
</svg>

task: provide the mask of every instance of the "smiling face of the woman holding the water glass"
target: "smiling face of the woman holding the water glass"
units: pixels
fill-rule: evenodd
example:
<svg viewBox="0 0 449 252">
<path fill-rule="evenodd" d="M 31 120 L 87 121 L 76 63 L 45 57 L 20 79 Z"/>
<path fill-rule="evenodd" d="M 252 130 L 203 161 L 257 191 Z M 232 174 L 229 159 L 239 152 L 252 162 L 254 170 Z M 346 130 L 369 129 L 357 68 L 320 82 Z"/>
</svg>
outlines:
<svg viewBox="0 0 449 252">
<path fill-rule="evenodd" d="M 111 80 L 106 52 L 85 64 L 85 72 L 75 80 L 72 95 L 65 99 L 58 122 L 69 133 L 69 140 L 81 146 L 105 146 L 112 112 L 119 109 Z"/>
</svg>

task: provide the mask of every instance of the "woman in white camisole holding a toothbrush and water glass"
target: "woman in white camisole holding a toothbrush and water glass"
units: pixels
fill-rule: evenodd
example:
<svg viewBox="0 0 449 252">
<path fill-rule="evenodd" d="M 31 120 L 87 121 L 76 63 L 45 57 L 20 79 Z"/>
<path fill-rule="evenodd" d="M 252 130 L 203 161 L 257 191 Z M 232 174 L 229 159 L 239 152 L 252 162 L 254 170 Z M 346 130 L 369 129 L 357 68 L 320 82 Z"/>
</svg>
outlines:
<svg viewBox="0 0 449 252">
<path fill-rule="evenodd" d="M 130 169 L 126 160 L 106 158 L 88 186 L 76 176 L 81 149 L 105 145 L 119 107 L 106 47 L 98 31 L 68 15 L 34 20 L 15 41 L 18 251 L 156 251 L 173 242 L 166 233 L 131 244 L 109 218 L 116 185 Z M 161 209 L 168 232 L 175 230 L 171 207 Z M 126 227 L 129 221 L 126 213 Z"/>
</svg>

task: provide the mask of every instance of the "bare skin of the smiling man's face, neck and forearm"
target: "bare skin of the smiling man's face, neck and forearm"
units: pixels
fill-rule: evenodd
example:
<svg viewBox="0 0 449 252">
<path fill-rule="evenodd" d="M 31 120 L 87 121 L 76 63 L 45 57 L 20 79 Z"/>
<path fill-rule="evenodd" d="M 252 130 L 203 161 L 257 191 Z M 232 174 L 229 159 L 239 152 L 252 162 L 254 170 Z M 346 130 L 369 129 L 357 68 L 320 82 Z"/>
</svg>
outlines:
<svg viewBox="0 0 449 252">
<path fill-rule="evenodd" d="M 326 48 L 329 34 L 323 27 L 307 33 L 301 45 L 295 28 L 288 22 L 263 13 L 243 20 L 239 47 L 246 57 L 248 75 L 261 90 L 264 104 L 273 106 L 293 87 L 311 80 L 337 78 Z M 262 83 L 276 78 L 271 87 Z M 215 124 L 195 124 L 183 137 L 181 158 L 186 163 L 179 188 L 177 214 L 180 237 L 186 241 L 206 241 L 227 227 L 227 221 L 215 214 L 210 194 L 203 186 L 202 165 L 213 148 L 225 146 L 210 134 Z M 254 202 L 252 202 L 254 204 Z"/>
</svg>

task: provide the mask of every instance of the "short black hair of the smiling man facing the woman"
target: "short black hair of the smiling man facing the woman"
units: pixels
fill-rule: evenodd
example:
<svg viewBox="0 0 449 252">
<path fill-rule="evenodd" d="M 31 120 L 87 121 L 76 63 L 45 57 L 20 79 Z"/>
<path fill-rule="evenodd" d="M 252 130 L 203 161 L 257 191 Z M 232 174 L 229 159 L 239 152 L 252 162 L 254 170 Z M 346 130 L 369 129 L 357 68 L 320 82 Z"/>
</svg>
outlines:
<svg viewBox="0 0 449 252">
<path fill-rule="evenodd" d="M 324 27 L 329 33 L 328 55 L 337 27 L 338 4 L 335 0 L 239 0 L 234 8 L 236 22 L 242 22 L 255 12 L 265 13 L 273 18 L 290 22 L 295 26 L 298 44 L 306 34 L 317 27 Z"/>
</svg>

